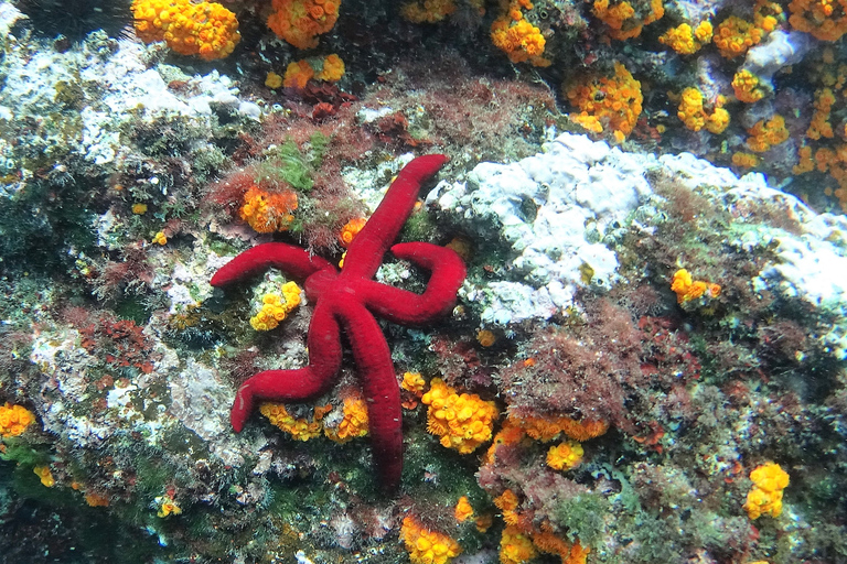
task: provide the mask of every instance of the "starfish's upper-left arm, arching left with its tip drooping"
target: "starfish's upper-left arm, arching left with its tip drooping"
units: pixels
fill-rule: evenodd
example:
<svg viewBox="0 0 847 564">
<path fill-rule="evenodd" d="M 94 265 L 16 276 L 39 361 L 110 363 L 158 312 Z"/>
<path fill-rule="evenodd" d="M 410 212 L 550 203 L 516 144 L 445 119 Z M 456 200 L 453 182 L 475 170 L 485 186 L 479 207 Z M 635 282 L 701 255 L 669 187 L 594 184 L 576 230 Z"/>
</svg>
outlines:
<svg viewBox="0 0 847 564">
<path fill-rule="evenodd" d="M 247 249 L 224 264 L 212 276 L 211 284 L 223 286 L 258 274 L 269 267 L 278 267 L 298 279 L 305 279 L 326 268 L 334 269 L 330 261 L 309 254 L 300 247 L 285 242 L 266 242 Z"/>
</svg>

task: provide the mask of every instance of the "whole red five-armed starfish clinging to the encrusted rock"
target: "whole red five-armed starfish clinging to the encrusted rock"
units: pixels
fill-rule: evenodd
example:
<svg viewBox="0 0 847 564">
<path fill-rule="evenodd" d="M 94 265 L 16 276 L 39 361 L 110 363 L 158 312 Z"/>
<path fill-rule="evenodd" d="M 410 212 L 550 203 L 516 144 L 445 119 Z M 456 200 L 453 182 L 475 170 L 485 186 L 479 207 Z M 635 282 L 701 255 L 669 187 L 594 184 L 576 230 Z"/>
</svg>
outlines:
<svg viewBox="0 0 847 564">
<path fill-rule="evenodd" d="M 395 257 L 431 272 L 422 294 L 373 280 L 388 246 L 411 213 L 420 185 L 447 160 L 442 154 L 419 156 L 407 164 L 383 202 L 350 245 L 339 272 L 329 261 L 282 242 L 259 245 L 238 254 L 212 276 L 223 286 L 279 267 L 305 279 L 305 295 L 314 303 L 307 345 L 309 366 L 266 370 L 242 384 L 230 421 L 240 432 L 256 400 L 303 401 L 325 393 L 341 368 L 341 329 L 350 339 L 358 368 L 369 420 L 371 445 L 382 482 L 394 489 L 403 470 L 400 390 L 392 352 L 374 315 L 404 325 L 422 325 L 449 312 L 465 276 L 462 259 L 449 248 L 407 242 L 390 248 Z"/>
</svg>

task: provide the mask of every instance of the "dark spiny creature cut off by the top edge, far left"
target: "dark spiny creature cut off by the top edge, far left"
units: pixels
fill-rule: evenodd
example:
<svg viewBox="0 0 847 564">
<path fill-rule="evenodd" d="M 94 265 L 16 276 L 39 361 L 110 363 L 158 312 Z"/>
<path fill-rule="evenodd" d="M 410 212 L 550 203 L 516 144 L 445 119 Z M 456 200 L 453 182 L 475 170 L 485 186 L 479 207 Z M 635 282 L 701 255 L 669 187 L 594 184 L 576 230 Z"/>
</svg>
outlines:
<svg viewBox="0 0 847 564">
<path fill-rule="evenodd" d="M 36 34 L 64 35 L 73 42 L 96 30 L 110 37 L 126 35 L 132 22 L 129 4 L 129 0 L 18 0 Z"/>
</svg>

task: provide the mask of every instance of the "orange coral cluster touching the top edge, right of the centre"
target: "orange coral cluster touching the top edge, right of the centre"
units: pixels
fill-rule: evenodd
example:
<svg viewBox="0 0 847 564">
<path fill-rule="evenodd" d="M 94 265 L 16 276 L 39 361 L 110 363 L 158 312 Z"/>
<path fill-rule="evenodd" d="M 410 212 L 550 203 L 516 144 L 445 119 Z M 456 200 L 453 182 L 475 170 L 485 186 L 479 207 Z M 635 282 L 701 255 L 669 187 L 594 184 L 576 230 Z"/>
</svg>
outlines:
<svg viewBox="0 0 847 564">
<path fill-rule="evenodd" d="M 494 46 L 505 52 L 513 63 L 528 62 L 534 66 L 549 66 L 550 61 L 544 58 L 546 40 L 542 31 L 524 18 L 521 10 L 533 9 L 529 0 L 511 0 L 501 2 L 503 14 L 491 24 L 491 41 Z"/>
</svg>

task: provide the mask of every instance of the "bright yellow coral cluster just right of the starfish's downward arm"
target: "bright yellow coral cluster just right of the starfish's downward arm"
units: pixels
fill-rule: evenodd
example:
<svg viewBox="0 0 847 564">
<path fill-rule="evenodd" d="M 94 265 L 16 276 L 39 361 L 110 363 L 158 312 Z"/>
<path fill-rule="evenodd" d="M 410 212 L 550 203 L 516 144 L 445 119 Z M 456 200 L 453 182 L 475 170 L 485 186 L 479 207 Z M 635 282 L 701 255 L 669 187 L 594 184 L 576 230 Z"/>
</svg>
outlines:
<svg viewBox="0 0 847 564">
<path fill-rule="evenodd" d="M 491 440 L 497 417 L 493 402 L 483 401 L 475 393 L 460 395 L 440 378 L 432 379 L 420 401 L 429 405 L 427 431 L 441 436 L 441 444 L 447 448 L 470 454 Z"/>
</svg>

